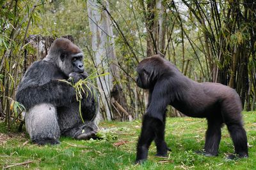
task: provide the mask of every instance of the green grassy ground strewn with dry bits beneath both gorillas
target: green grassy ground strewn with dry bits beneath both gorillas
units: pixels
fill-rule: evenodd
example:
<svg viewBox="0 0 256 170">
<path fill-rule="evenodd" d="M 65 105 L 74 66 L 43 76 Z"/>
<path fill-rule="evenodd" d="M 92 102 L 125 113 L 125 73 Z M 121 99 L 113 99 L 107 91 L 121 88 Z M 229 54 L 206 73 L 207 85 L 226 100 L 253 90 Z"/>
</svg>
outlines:
<svg viewBox="0 0 256 170">
<path fill-rule="evenodd" d="M 150 146 L 148 161 L 134 164 L 140 121 L 103 122 L 103 140 L 76 141 L 61 138 L 56 146 L 36 146 L 28 134 L 6 134 L 0 126 L 0 167 L 11 169 L 256 169 L 256 112 L 244 113 L 248 136 L 248 159 L 227 160 L 233 152 L 226 127 L 222 129 L 220 154 L 204 157 L 194 153 L 204 146 L 206 122 L 199 118 L 168 118 L 166 142 L 172 149 L 168 158 L 155 157 Z M 2 129 L 2 130 L 1 130 Z"/>
</svg>

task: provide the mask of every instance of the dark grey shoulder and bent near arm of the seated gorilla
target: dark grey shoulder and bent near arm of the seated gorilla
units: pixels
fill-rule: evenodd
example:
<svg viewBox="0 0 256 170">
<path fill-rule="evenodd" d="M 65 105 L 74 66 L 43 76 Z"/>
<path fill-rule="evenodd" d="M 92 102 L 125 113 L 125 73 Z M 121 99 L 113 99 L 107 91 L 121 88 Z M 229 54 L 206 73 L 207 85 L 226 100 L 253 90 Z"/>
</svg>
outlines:
<svg viewBox="0 0 256 170">
<path fill-rule="evenodd" d="M 26 110 L 40 103 L 64 106 L 76 100 L 75 89 L 60 81 L 65 76 L 53 64 L 39 61 L 32 64 L 24 75 L 16 94 L 16 100 Z M 66 79 L 66 78 L 65 78 Z"/>
</svg>

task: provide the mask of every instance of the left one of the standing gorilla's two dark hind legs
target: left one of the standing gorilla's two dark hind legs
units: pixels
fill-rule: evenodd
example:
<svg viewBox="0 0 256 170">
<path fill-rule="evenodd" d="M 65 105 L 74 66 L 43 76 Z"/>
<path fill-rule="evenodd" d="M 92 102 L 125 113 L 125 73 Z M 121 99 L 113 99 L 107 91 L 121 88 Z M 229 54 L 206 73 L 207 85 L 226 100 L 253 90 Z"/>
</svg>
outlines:
<svg viewBox="0 0 256 170">
<path fill-rule="evenodd" d="M 205 134 L 205 155 L 217 156 L 221 139 L 221 125 L 223 124 L 221 117 L 207 118 L 208 129 Z"/>
</svg>

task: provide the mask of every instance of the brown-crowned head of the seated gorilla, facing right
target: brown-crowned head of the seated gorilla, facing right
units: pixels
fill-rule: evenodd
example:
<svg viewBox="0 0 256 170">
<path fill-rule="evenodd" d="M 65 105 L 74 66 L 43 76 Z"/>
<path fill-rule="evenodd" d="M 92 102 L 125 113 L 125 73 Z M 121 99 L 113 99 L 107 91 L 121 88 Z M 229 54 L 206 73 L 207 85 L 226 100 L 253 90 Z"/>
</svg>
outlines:
<svg viewBox="0 0 256 170">
<path fill-rule="evenodd" d="M 83 73 L 83 52 L 69 39 L 56 39 L 44 60 L 53 62 L 68 76 L 72 72 Z"/>
</svg>

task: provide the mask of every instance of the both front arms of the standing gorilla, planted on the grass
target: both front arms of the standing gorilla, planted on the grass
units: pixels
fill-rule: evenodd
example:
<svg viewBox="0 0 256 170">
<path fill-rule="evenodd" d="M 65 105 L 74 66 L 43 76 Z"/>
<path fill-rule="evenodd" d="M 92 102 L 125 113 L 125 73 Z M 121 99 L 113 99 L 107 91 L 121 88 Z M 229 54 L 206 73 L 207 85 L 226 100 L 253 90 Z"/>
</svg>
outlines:
<svg viewBox="0 0 256 170">
<path fill-rule="evenodd" d="M 165 112 L 170 103 L 170 96 L 166 92 L 168 88 L 159 88 L 168 85 L 168 81 L 159 81 L 151 91 L 148 99 L 147 112 L 143 117 L 141 134 L 137 145 L 136 162 L 147 159 L 148 147 L 154 140 L 157 147 L 157 155 L 166 156 L 170 150 L 164 141 Z M 170 93 L 169 93 L 170 94 Z"/>
</svg>

